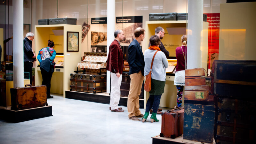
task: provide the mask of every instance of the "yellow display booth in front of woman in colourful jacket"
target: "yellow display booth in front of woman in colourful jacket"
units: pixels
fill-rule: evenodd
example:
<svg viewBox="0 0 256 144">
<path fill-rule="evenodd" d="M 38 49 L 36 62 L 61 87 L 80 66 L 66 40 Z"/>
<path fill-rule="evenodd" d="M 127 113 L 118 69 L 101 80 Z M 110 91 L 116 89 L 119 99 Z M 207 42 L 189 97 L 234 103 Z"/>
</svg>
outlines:
<svg viewBox="0 0 256 144">
<path fill-rule="evenodd" d="M 63 30 L 63 35 L 56 36 L 52 30 Z M 63 53 L 64 67 L 60 69 L 60 72 L 53 72 L 51 80 L 51 93 L 63 94 L 65 97 L 65 90 L 69 90 L 70 87 L 70 73 L 73 73 L 77 69 L 77 63 L 81 61 L 81 29 L 80 25 L 41 25 L 35 26 L 35 46 L 36 56 L 38 51 L 44 47 L 47 47 L 48 40 L 54 40 L 56 43 L 56 52 Z M 79 52 L 67 52 L 67 32 L 79 32 Z M 39 64 L 36 61 L 36 66 Z M 35 84 L 42 84 L 42 76 L 40 68 L 35 69 Z"/>
</svg>

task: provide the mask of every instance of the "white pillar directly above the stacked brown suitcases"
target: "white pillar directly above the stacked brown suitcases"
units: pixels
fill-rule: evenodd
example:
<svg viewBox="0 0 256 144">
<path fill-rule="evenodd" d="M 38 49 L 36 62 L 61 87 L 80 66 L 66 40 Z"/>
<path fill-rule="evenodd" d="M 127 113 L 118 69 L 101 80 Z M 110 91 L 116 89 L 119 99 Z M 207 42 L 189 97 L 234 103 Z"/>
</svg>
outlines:
<svg viewBox="0 0 256 144">
<path fill-rule="evenodd" d="M 202 67 L 203 0 L 188 0 L 187 69 Z"/>
</svg>

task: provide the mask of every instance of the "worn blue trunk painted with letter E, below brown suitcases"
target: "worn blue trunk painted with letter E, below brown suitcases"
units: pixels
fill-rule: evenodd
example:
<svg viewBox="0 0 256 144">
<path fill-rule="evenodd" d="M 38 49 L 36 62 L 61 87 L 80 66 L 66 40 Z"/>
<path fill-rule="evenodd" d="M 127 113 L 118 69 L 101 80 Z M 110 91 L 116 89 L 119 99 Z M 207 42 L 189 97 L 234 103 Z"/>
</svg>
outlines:
<svg viewBox="0 0 256 144">
<path fill-rule="evenodd" d="M 213 143 L 215 107 L 201 104 L 184 104 L 183 141 Z"/>
</svg>

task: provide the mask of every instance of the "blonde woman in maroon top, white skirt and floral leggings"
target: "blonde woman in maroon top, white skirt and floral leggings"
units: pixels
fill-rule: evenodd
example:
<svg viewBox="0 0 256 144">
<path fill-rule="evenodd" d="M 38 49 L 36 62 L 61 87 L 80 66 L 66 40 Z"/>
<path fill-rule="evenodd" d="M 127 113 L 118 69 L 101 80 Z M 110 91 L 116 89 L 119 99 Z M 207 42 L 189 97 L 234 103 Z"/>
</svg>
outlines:
<svg viewBox="0 0 256 144">
<path fill-rule="evenodd" d="M 177 65 L 174 77 L 174 85 L 177 88 L 177 105 L 181 107 L 183 88 L 185 86 L 185 69 L 187 64 L 187 35 L 181 36 L 180 47 L 176 48 Z"/>
</svg>

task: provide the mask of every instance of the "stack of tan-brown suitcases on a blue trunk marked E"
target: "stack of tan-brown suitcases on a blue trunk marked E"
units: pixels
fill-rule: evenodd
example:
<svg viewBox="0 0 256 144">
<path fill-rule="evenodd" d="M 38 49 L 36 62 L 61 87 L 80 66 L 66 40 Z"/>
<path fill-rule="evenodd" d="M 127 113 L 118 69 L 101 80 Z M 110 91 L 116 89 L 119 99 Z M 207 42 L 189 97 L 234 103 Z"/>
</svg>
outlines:
<svg viewBox="0 0 256 144">
<path fill-rule="evenodd" d="M 185 70 L 183 141 L 213 143 L 215 107 L 204 68 Z"/>
</svg>

